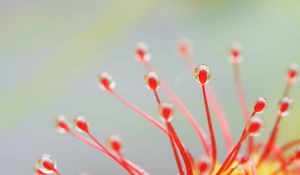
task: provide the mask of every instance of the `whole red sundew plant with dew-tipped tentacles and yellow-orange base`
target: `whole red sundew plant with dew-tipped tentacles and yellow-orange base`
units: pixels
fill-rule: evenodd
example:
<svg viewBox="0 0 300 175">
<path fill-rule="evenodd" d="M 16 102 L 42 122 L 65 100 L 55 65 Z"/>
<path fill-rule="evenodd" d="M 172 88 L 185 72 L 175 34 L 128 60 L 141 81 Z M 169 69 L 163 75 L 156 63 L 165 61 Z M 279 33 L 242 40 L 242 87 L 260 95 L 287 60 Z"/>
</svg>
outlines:
<svg viewBox="0 0 300 175">
<path fill-rule="evenodd" d="M 299 66 L 292 64 L 287 72 L 287 81 L 282 98 L 278 103 L 277 117 L 267 140 L 258 141 L 256 136 L 262 131 L 263 118 L 259 116 L 268 105 L 264 97 L 258 97 L 251 110 L 246 105 L 242 82 L 240 79 L 240 66 L 243 60 L 241 47 L 234 44 L 229 49 L 228 59 L 233 66 L 233 75 L 235 78 L 237 96 L 243 113 L 244 129 L 237 141 L 232 139 L 230 127 L 227 123 L 225 114 L 218 103 L 214 92 L 207 87 L 212 78 L 212 71 L 209 66 L 202 64 L 196 66 L 192 56 L 191 42 L 187 39 L 181 39 L 178 42 L 178 51 L 183 60 L 188 65 L 190 71 L 194 74 L 202 92 L 202 98 L 205 107 L 205 118 L 208 126 L 208 136 L 197 122 L 196 117 L 188 110 L 185 104 L 177 97 L 170 87 L 160 78 L 158 72 L 150 64 L 150 52 L 145 43 L 138 43 L 135 48 L 137 60 L 144 66 L 146 75 L 144 76 L 147 88 L 153 93 L 157 102 L 158 115 L 161 120 L 152 117 L 141 108 L 125 99 L 115 90 L 115 82 L 107 73 L 101 73 L 98 76 L 98 83 L 104 91 L 116 98 L 123 105 L 127 106 L 133 112 L 145 118 L 150 124 L 158 128 L 170 142 L 170 147 L 174 155 L 179 175 L 285 175 L 300 174 L 300 138 L 288 143 L 279 145 L 277 138 L 280 133 L 281 121 L 289 114 L 292 106 L 290 91 L 292 85 L 297 81 Z M 159 93 L 165 93 L 169 99 L 162 100 Z M 200 144 L 203 147 L 203 155 L 197 160 L 191 154 L 178 136 L 176 128 L 172 124 L 174 118 L 174 108 L 191 124 L 197 134 Z M 213 111 L 215 116 L 211 115 Z M 217 148 L 217 140 L 212 118 L 216 121 L 222 130 L 224 142 L 226 145 L 227 156 L 222 162 L 218 160 L 218 151 L 225 151 Z M 91 131 L 91 127 L 83 116 L 77 116 L 74 119 L 73 127 L 64 115 L 56 117 L 55 125 L 60 133 L 73 136 L 82 143 L 104 153 L 115 161 L 126 173 L 130 175 L 148 175 L 150 174 L 137 164 L 128 160 L 122 153 L 123 142 L 120 136 L 112 134 L 107 139 L 107 144 L 103 144 Z M 75 128 L 75 129 L 73 129 Z M 245 151 L 241 148 L 245 145 Z M 57 168 L 55 159 L 44 154 L 40 156 L 38 163 L 34 168 L 37 175 L 56 174 L 62 175 Z"/>
</svg>

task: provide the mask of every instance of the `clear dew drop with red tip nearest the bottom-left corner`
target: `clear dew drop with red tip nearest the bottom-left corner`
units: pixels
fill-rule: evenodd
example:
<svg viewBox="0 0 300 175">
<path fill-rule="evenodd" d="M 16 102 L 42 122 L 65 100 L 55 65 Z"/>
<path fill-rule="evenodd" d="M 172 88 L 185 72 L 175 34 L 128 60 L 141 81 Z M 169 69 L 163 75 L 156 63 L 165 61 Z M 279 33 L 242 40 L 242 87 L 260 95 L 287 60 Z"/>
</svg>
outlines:
<svg viewBox="0 0 300 175">
<path fill-rule="evenodd" d="M 55 159 L 49 155 L 44 154 L 39 158 L 38 161 L 38 169 L 45 173 L 45 174 L 51 174 L 56 171 L 57 165 Z"/>
</svg>

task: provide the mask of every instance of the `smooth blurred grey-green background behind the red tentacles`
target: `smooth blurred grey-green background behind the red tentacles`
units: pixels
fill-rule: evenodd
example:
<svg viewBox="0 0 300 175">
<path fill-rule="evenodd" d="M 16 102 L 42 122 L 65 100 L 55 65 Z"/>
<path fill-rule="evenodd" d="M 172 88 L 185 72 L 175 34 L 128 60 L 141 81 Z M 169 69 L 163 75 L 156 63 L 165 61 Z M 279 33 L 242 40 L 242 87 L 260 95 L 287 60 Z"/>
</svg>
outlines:
<svg viewBox="0 0 300 175">
<path fill-rule="evenodd" d="M 194 59 L 213 70 L 210 86 L 227 114 L 234 138 L 242 113 L 227 61 L 227 48 L 239 42 L 248 106 L 269 99 L 268 136 L 284 89 L 286 68 L 300 63 L 298 0 L 2 0 L 0 1 L 0 169 L 32 174 L 40 154 L 50 153 L 64 174 L 124 174 L 112 160 L 55 131 L 58 114 L 86 116 L 105 141 L 112 132 L 124 140 L 124 154 L 153 174 L 176 174 L 168 139 L 97 85 L 106 70 L 116 90 L 153 116 L 145 71 L 135 61 L 137 41 L 148 43 L 152 64 L 207 131 L 197 83 L 176 51 L 180 37 L 193 41 Z M 294 108 L 282 123 L 280 142 L 300 136 L 300 86 L 292 89 Z M 162 97 L 165 97 L 162 94 Z M 187 121 L 175 115 L 182 140 L 198 157 L 201 146 Z M 216 127 L 219 159 L 224 143 Z"/>
</svg>

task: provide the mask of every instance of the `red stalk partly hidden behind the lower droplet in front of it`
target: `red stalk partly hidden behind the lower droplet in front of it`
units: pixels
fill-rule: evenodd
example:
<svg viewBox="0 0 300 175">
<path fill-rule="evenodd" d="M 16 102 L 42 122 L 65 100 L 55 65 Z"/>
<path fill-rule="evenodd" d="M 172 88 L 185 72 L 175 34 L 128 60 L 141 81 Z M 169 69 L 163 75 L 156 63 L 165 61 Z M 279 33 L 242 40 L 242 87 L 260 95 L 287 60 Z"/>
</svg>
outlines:
<svg viewBox="0 0 300 175">
<path fill-rule="evenodd" d="M 160 101 L 160 98 L 158 96 L 157 91 L 154 90 L 153 93 L 155 95 L 158 106 L 160 106 L 161 101 Z M 180 162 L 180 158 L 179 158 L 179 155 L 178 155 L 178 152 L 177 152 L 177 149 L 176 149 L 176 145 L 175 145 L 176 143 L 175 143 L 174 137 L 172 136 L 172 134 L 170 134 L 170 130 L 169 130 L 168 127 L 167 127 L 167 129 L 168 129 L 168 133 L 169 133 L 168 136 L 169 136 L 169 140 L 170 140 L 170 143 L 171 143 L 171 146 L 172 146 L 172 151 L 173 151 L 173 154 L 174 154 L 174 158 L 175 158 L 175 161 L 176 161 L 176 165 L 177 165 L 179 174 L 184 175 L 184 171 L 183 171 L 183 168 L 182 168 L 182 165 L 181 165 L 181 162 Z"/>
</svg>

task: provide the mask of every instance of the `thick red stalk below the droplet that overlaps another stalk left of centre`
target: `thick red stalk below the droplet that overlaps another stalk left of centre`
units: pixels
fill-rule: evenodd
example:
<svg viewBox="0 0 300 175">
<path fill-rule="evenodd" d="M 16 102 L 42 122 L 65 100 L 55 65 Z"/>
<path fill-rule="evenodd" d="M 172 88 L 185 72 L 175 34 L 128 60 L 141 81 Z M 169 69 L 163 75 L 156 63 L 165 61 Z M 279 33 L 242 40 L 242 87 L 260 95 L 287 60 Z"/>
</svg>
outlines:
<svg viewBox="0 0 300 175">
<path fill-rule="evenodd" d="M 167 125 L 168 130 L 170 131 L 170 134 L 174 138 L 174 142 L 176 143 L 176 145 L 179 149 L 179 152 L 182 156 L 183 162 L 184 162 L 185 167 L 186 167 L 187 175 L 193 175 L 193 167 L 192 167 L 192 164 L 190 162 L 189 153 L 187 152 L 187 149 L 184 147 L 184 145 L 182 144 L 182 142 L 179 139 L 178 135 L 176 134 L 176 131 L 173 128 L 173 125 L 168 121 L 166 121 L 166 125 Z"/>
</svg>

